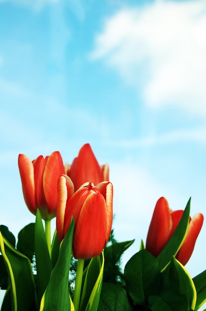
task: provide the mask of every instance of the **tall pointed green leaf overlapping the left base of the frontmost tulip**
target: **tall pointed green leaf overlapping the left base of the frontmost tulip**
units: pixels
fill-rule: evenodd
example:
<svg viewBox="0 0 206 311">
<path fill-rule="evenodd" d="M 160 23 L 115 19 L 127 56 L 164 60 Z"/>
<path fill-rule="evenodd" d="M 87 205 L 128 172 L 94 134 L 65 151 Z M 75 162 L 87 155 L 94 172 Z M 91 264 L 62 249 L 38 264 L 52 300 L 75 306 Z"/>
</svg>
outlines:
<svg viewBox="0 0 206 311">
<path fill-rule="evenodd" d="M 59 256 L 51 272 L 51 278 L 42 297 L 40 311 L 74 311 L 69 296 L 68 277 L 71 262 L 74 219 L 60 244 Z"/>
</svg>

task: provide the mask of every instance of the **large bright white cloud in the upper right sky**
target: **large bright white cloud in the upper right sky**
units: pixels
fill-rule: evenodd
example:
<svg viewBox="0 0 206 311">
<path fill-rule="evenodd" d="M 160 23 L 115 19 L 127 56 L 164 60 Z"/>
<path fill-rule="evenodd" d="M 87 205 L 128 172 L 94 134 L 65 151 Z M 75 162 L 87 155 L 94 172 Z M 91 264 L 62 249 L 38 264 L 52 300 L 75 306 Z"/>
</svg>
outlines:
<svg viewBox="0 0 206 311">
<path fill-rule="evenodd" d="M 206 0 L 154 1 L 107 18 L 92 60 L 103 59 L 154 108 L 206 115 Z"/>
</svg>

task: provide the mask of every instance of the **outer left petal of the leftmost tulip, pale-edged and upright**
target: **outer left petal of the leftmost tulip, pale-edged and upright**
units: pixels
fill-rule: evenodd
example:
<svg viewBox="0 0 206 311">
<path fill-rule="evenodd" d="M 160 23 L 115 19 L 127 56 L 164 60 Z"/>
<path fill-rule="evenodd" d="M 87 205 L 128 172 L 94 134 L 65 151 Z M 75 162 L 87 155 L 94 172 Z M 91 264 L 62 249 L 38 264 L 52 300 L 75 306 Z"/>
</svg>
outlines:
<svg viewBox="0 0 206 311">
<path fill-rule="evenodd" d="M 35 188 L 34 188 L 34 166 L 28 156 L 19 155 L 18 157 L 19 172 L 22 182 L 22 190 L 25 203 L 34 215 L 36 214 Z"/>
</svg>

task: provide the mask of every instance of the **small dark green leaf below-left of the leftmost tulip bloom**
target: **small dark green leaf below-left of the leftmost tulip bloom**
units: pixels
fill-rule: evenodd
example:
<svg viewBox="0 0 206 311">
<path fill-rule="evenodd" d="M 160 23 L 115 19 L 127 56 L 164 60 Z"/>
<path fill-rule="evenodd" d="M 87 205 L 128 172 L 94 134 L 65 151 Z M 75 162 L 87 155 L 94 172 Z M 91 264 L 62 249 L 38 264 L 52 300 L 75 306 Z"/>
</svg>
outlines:
<svg viewBox="0 0 206 311">
<path fill-rule="evenodd" d="M 33 262 L 34 256 L 34 229 L 35 224 L 31 223 L 25 226 L 18 234 L 18 242 L 16 248 L 25 256 L 27 256 L 31 262 Z"/>
</svg>

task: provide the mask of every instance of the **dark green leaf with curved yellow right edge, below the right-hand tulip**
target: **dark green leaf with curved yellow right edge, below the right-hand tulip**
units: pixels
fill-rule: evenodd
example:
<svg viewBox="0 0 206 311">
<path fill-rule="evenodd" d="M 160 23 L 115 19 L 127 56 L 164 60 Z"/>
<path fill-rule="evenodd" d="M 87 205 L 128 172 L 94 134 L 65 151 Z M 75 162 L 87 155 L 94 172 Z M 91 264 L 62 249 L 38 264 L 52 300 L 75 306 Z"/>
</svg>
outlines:
<svg viewBox="0 0 206 311">
<path fill-rule="evenodd" d="M 195 284 L 185 267 L 174 256 L 161 275 L 162 279 L 158 293 L 169 288 L 177 295 L 184 295 L 187 298 L 190 309 L 195 310 L 197 300 Z"/>
</svg>

